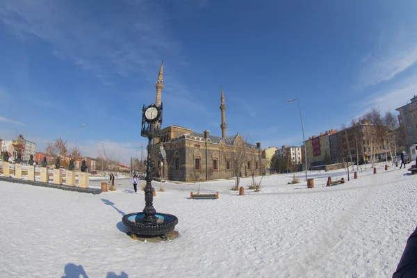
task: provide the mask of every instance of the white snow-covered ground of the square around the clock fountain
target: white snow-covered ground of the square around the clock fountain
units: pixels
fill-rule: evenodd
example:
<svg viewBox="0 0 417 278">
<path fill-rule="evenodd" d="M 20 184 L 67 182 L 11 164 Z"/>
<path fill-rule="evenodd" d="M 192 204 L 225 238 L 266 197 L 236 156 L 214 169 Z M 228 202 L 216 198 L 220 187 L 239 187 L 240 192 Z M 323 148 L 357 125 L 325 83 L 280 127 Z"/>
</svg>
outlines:
<svg viewBox="0 0 417 278">
<path fill-rule="evenodd" d="M 100 195 L 0 182 L 0 277 L 391 277 L 417 224 L 417 177 L 377 170 L 311 173 L 313 189 L 301 172 L 294 185 L 270 175 L 258 193 L 246 178 L 245 196 L 231 179 L 164 182 L 154 207 L 179 218 L 179 238 L 161 243 L 124 234 L 122 215 L 145 206 L 130 179 Z M 346 183 L 327 188 L 329 175 Z M 220 199 L 189 199 L 199 186 Z"/>
</svg>

